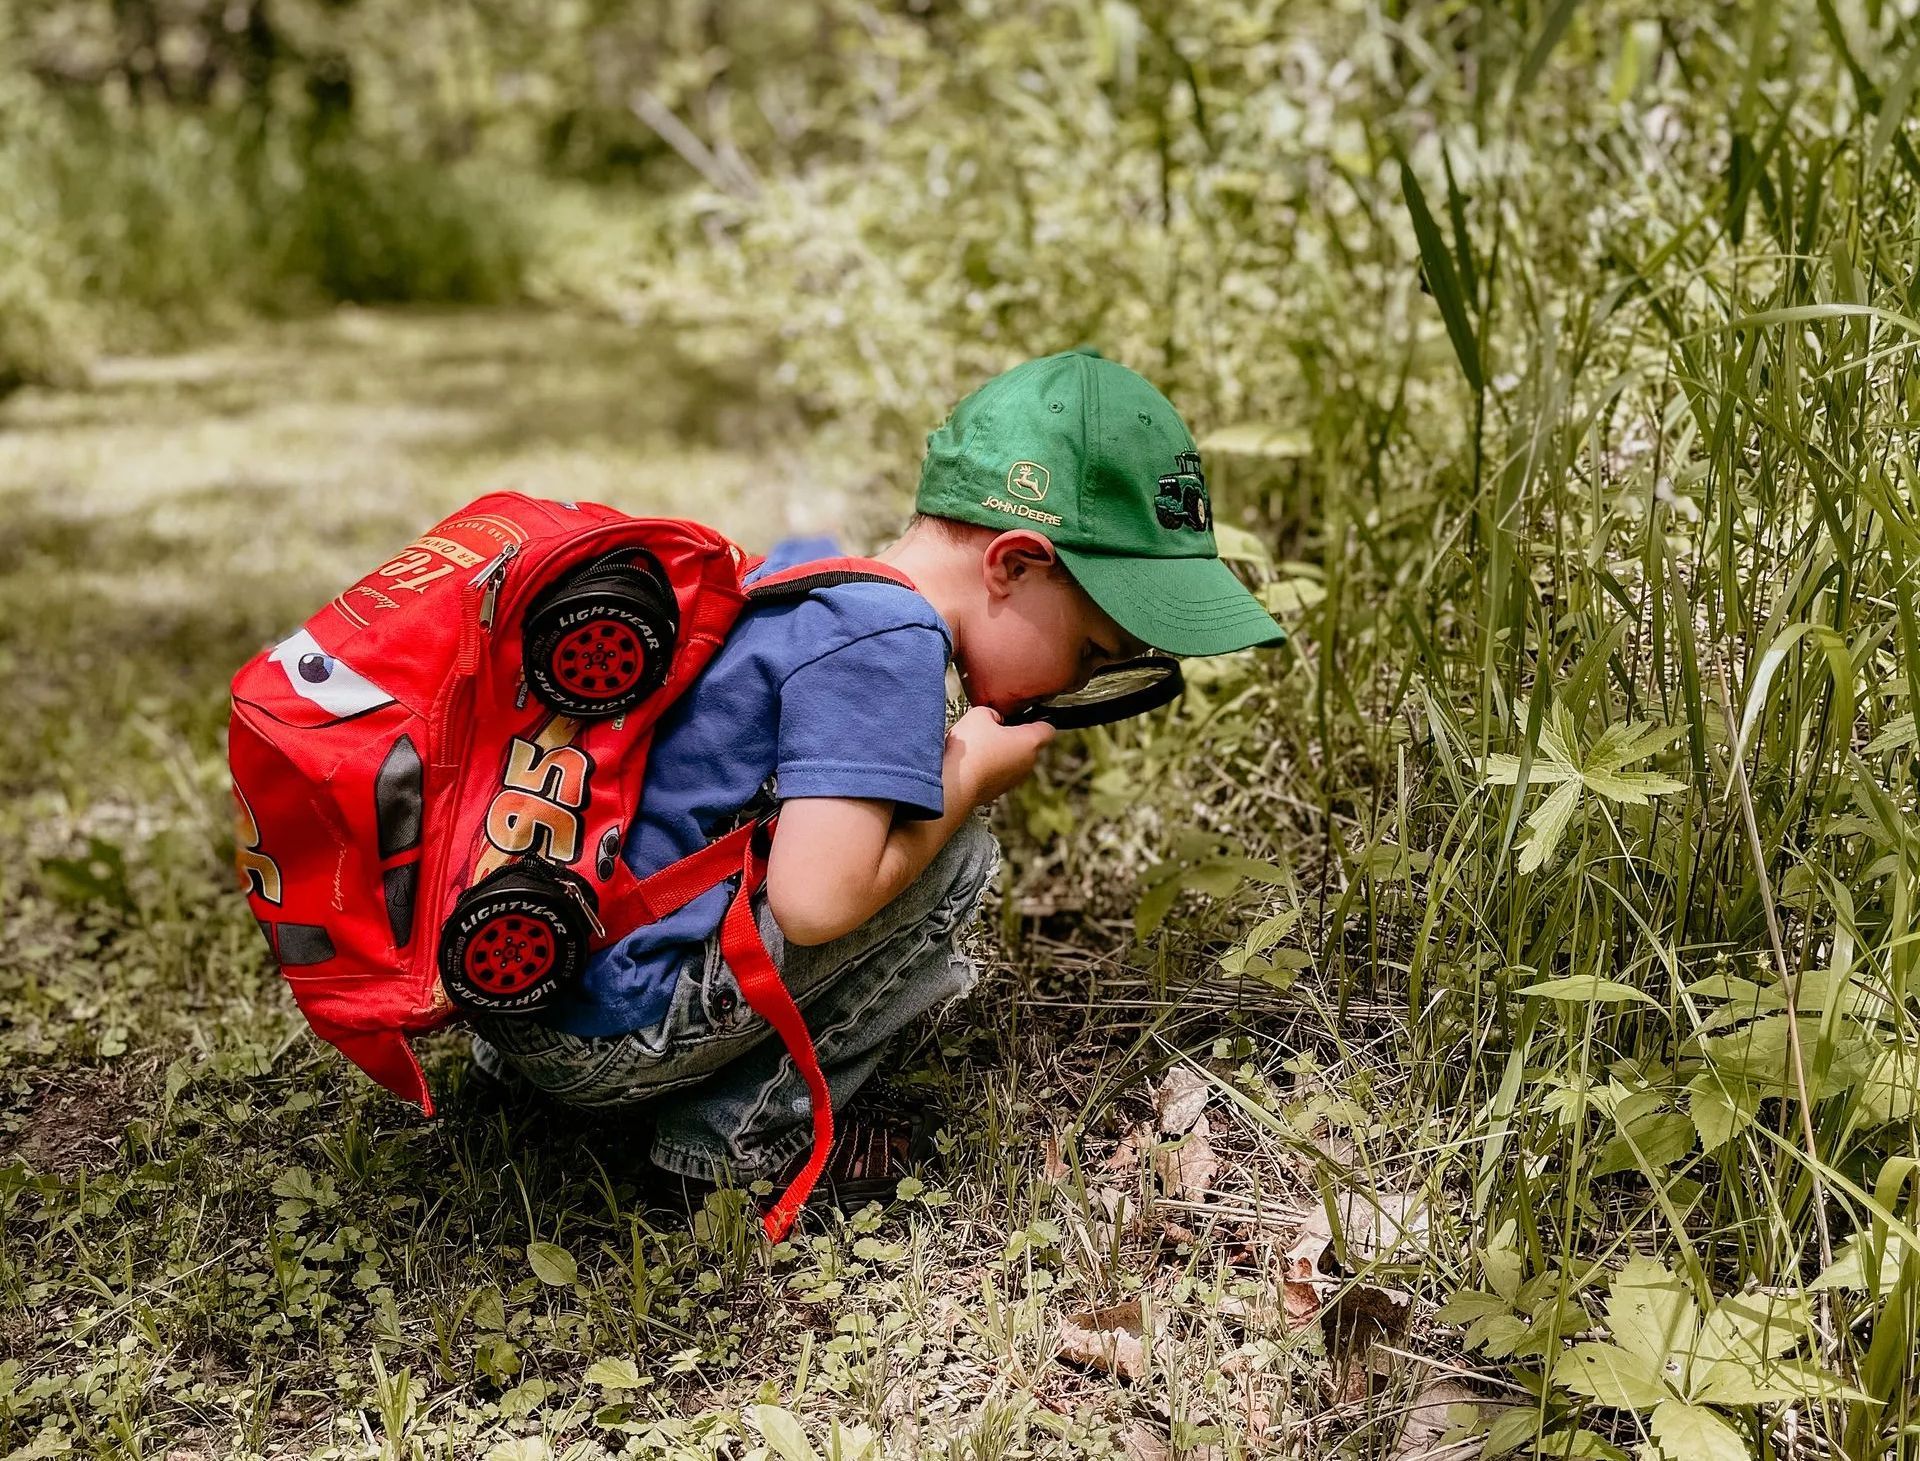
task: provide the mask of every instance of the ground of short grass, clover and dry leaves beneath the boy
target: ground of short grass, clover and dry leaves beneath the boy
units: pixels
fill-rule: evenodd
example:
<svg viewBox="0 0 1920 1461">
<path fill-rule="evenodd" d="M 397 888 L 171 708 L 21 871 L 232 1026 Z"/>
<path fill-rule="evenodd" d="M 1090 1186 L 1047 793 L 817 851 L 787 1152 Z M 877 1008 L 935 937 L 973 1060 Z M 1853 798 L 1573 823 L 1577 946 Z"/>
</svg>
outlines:
<svg viewBox="0 0 1920 1461">
<path fill-rule="evenodd" d="M 305 1031 L 232 887 L 232 670 L 490 488 L 831 530 L 753 380 L 342 311 L 0 405 L 0 1455 L 1461 1455 L 1471 1396 L 1346 1348 L 1407 1296 L 1321 1277 L 1308 1169 L 1231 1042 L 1177 1062 L 1190 1000 L 1123 922 L 996 895 L 979 989 L 902 1052 L 941 1156 L 778 1248 L 455 1031 L 436 1121 Z M 1359 1229 L 1390 1279 L 1415 1217 Z"/>
</svg>

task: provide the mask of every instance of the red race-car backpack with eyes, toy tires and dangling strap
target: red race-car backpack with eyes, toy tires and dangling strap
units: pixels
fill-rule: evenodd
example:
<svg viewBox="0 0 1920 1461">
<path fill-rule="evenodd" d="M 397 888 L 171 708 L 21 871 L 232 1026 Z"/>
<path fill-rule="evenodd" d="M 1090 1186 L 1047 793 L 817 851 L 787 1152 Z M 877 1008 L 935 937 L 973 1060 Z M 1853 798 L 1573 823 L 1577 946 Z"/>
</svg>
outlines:
<svg viewBox="0 0 1920 1461">
<path fill-rule="evenodd" d="M 749 601 L 912 584 L 828 559 L 749 587 L 758 564 L 697 522 L 480 497 L 240 668 L 228 758 L 240 883 L 294 1000 L 428 1115 L 409 1035 L 532 1014 L 591 952 L 739 877 L 722 954 L 812 1094 L 812 1154 L 764 1219 L 780 1238 L 833 1108 L 749 906 L 774 820 L 647 877 L 620 849 L 660 712 Z"/>
</svg>

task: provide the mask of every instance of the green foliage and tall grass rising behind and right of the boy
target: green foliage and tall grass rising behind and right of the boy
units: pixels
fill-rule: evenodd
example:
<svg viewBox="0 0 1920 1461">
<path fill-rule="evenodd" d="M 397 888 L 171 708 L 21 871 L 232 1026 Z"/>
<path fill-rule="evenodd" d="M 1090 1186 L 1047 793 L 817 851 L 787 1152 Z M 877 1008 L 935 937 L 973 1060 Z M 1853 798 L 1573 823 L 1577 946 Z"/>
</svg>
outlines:
<svg viewBox="0 0 1920 1461">
<path fill-rule="evenodd" d="M 877 534 L 983 376 L 1135 365 L 1296 641 L 1064 754 L 1021 889 L 1135 872 L 1150 993 L 1225 991 L 1160 1033 L 1281 1148 L 1340 1131 L 1329 1185 L 1444 1194 L 1419 1282 L 1507 1444 L 1905 1455 L 1916 40 L 1880 0 L 31 0 L 0 382 L 532 299 L 762 359 Z"/>
</svg>

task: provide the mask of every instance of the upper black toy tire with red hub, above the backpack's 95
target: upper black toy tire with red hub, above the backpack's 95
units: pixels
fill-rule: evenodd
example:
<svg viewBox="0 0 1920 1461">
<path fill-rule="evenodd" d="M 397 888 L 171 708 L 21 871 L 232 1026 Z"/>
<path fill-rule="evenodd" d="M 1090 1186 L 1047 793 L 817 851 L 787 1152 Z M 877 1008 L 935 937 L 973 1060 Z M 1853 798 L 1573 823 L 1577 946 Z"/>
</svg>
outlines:
<svg viewBox="0 0 1920 1461">
<path fill-rule="evenodd" d="M 520 626 L 534 697 L 561 714 L 603 720 L 632 710 L 666 680 L 674 595 L 651 555 L 624 551 L 540 595 Z"/>
</svg>

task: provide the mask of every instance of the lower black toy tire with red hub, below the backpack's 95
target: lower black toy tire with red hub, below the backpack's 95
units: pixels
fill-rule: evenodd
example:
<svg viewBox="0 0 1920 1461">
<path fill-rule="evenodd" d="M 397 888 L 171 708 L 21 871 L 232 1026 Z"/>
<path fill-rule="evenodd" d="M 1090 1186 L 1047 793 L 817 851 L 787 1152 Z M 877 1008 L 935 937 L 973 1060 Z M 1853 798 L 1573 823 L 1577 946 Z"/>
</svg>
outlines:
<svg viewBox="0 0 1920 1461">
<path fill-rule="evenodd" d="M 584 879 L 538 858 L 495 868 L 453 904 L 440 983 L 461 1010 L 524 1014 L 549 1004 L 588 960 Z"/>
</svg>

